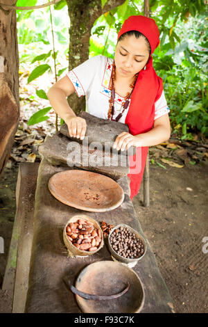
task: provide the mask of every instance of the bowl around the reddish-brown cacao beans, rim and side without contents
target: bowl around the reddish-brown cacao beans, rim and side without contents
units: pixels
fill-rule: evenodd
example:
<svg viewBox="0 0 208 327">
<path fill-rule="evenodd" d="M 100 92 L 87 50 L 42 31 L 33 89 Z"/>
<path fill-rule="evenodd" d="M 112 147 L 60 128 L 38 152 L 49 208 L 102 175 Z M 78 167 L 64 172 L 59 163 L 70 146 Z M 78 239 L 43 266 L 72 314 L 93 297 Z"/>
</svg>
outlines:
<svg viewBox="0 0 208 327">
<path fill-rule="evenodd" d="M 78 221 L 78 219 L 86 219 L 87 221 L 92 221 L 92 223 L 94 224 L 94 227 L 101 230 L 100 225 L 93 218 L 91 218 L 89 216 L 85 216 L 85 214 L 79 214 L 79 215 L 73 216 L 71 219 L 69 219 L 69 221 L 67 222 L 67 224 L 65 225 L 64 230 L 63 230 L 64 244 L 67 247 L 67 249 L 69 250 L 69 252 L 72 253 L 74 256 L 80 255 L 83 257 L 85 255 L 93 255 L 94 253 L 98 252 L 98 250 L 101 250 L 101 248 L 103 248 L 103 245 L 104 245 L 103 232 L 101 230 L 101 244 L 97 248 L 97 250 L 89 252 L 89 251 L 80 250 L 80 249 L 76 248 L 76 246 L 73 246 L 71 241 L 69 241 L 69 239 L 67 238 L 66 228 L 67 228 L 67 225 L 69 225 L 69 223 L 76 223 L 76 221 Z"/>
</svg>

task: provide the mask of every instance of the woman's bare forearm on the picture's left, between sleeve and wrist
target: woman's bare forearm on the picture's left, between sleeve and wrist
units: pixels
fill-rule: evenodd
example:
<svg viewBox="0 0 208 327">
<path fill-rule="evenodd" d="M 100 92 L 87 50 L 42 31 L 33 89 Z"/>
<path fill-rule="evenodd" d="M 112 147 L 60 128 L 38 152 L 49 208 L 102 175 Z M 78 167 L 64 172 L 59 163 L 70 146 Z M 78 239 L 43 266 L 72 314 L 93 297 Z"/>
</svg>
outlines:
<svg viewBox="0 0 208 327">
<path fill-rule="evenodd" d="M 55 113 L 57 113 L 64 120 L 64 122 L 67 122 L 67 120 L 69 120 L 71 117 L 76 117 L 76 114 L 73 112 L 67 102 L 67 97 L 63 90 L 52 87 L 49 89 L 47 97 Z"/>
</svg>

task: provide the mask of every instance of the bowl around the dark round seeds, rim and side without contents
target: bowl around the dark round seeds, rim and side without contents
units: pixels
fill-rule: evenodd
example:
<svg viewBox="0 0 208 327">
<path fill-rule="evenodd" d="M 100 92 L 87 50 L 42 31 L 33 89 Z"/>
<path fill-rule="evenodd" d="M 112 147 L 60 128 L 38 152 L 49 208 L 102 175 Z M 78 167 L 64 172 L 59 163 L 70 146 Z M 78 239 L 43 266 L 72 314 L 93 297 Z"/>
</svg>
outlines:
<svg viewBox="0 0 208 327">
<path fill-rule="evenodd" d="M 110 237 L 111 237 L 111 234 L 112 232 L 114 232 L 114 230 L 116 229 L 119 229 L 120 227 L 125 227 L 125 228 L 128 228 L 128 230 L 130 230 L 130 232 L 133 232 L 135 233 L 137 239 L 140 239 L 142 241 L 142 243 L 144 244 L 144 253 L 143 255 L 141 255 L 141 257 L 135 257 L 133 259 L 130 259 L 130 258 L 126 258 L 126 257 L 122 257 L 121 255 L 119 255 L 118 253 L 116 253 L 116 251 L 112 248 L 111 244 L 110 244 Z M 128 225 L 125 225 L 125 224 L 120 224 L 120 225 L 116 225 L 110 232 L 110 234 L 108 235 L 108 238 L 107 238 L 107 243 L 108 243 L 108 248 L 110 250 L 110 252 L 112 253 L 112 256 L 116 259 L 116 260 L 119 260 L 125 264 L 129 264 L 129 263 L 132 263 L 132 262 L 137 262 L 139 260 L 141 260 L 145 253 L 146 253 L 146 241 L 144 240 L 144 237 L 142 237 L 138 232 L 137 230 L 134 230 L 133 228 L 131 228 L 130 226 Z"/>
</svg>

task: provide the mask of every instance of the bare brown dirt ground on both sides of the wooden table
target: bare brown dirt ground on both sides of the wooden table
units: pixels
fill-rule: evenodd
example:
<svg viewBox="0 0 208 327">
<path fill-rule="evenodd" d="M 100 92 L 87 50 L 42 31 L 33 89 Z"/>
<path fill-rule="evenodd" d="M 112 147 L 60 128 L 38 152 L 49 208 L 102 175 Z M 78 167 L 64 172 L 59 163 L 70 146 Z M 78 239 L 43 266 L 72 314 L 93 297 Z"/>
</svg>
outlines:
<svg viewBox="0 0 208 327">
<path fill-rule="evenodd" d="M 18 164 L 6 168 L 0 180 L 0 236 L 4 239 L 0 283 L 15 218 Z M 150 164 L 150 207 L 142 206 L 142 193 L 133 199 L 175 312 L 208 312 L 208 241 L 207 246 L 202 242 L 208 237 L 207 185 L 208 161 L 166 170 Z M 0 289 L 0 313 L 11 312 L 11 308 L 12 294 Z"/>
</svg>

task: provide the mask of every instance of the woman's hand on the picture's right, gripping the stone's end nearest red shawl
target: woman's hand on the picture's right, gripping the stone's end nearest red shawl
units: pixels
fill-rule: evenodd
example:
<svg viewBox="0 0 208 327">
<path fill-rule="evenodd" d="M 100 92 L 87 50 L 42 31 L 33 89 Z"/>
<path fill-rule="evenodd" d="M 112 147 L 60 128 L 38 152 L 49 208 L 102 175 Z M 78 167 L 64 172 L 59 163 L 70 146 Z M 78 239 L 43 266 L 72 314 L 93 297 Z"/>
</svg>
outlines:
<svg viewBox="0 0 208 327">
<path fill-rule="evenodd" d="M 131 146 L 139 147 L 141 146 L 141 139 L 138 136 L 133 136 L 132 134 L 123 131 L 123 133 L 119 134 L 116 137 L 116 141 L 114 142 L 113 148 L 116 150 L 128 150 Z"/>
</svg>

